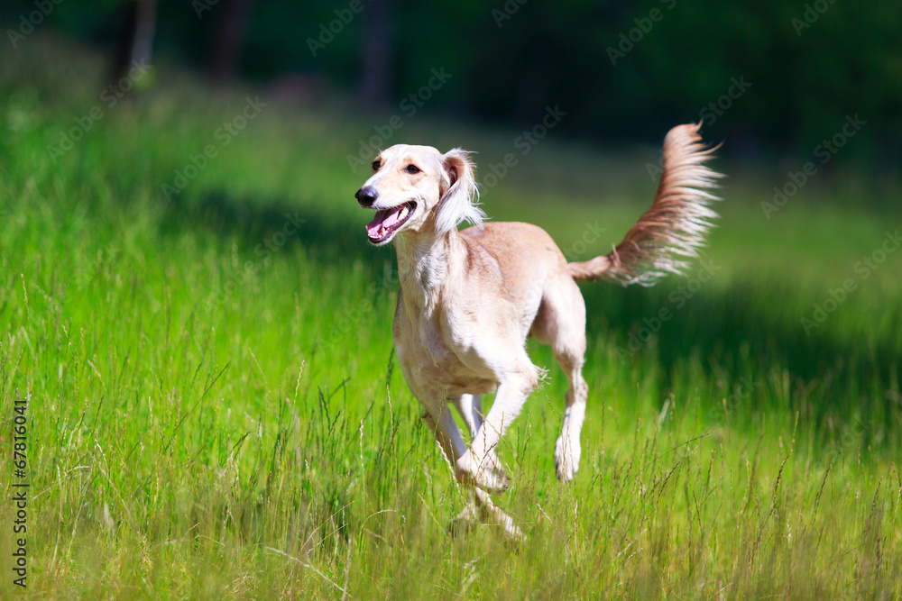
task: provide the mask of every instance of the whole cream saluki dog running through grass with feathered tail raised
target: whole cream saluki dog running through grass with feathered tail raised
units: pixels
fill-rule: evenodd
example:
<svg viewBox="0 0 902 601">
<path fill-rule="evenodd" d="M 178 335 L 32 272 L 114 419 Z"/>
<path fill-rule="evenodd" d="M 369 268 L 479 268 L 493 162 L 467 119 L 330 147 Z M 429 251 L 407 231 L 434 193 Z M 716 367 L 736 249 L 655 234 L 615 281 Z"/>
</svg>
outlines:
<svg viewBox="0 0 902 601">
<path fill-rule="evenodd" d="M 426 410 L 458 481 L 474 487 L 483 514 L 520 535 L 488 493 L 507 487 L 495 454 L 504 429 L 520 414 L 540 370 L 525 350 L 527 337 L 550 344 L 569 382 L 557 477 L 579 468 L 580 430 L 588 386 L 585 305 L 577 281 L 611 279 L 651 285 L 680 273 L 704 244 L 717 215 L 709 208 L 720 174 L 705 166 L 701 123 L 675 127 L 664 140 L 663 172 L 649 210 L 611 252 L 568 263 L 544 230 L 529 223 L 483 223 L 470 153 L 442 154 L 398 144 L 373 160 L 373 175 L 354 195 L 375 211 L 366 226 L 375 245 L 395 242 L 400 293 L 394 345 L 410 391 Z M 460 223 L 473 227 L 458 231 Z M 480 395 L 496 390 L 483 416 Z M 469 431 L 466 445 L 448 402 Z"/>
</svg>

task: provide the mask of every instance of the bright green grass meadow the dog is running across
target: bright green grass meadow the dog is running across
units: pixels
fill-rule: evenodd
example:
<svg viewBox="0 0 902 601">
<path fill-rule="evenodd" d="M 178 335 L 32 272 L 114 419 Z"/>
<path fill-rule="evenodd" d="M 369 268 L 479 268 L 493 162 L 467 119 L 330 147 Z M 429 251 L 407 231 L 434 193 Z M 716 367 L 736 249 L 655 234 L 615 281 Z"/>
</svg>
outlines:
<svg viewBox="0 0 902 601">
<path fill-rule="evenodd" d="M 394 255 L 365 240 L 346 159 L 389 115 L 270 98 L 224 145 L 257 91 L 157 73 L 107 107 L 97 56 L 27 42 L 0 64 L 0 483 L 11 499 L 23 481 L 27 397 L 28 587 L 10 502 L 0 596 L 902 596 L 902 251 L 878 262 L 897 182 L 819 174 L 768 219 L 759 203 L 799 166 L 717 163 L 723 219 L 687 278 L 583 287 L 574 483 L 552 458 L 566 378 L 530 343 L 549 377 L 502 439 L 511 489 L 494 496 L 528 540 L 452 537 L 466 490 L 393 361 Z M 461 145 L 484 167 L 517 135 L 424 110 L 389 143 Z M 484 208 L 586 259 L 650 204 L 656 159 L 551 135 Z"/>
</svg>

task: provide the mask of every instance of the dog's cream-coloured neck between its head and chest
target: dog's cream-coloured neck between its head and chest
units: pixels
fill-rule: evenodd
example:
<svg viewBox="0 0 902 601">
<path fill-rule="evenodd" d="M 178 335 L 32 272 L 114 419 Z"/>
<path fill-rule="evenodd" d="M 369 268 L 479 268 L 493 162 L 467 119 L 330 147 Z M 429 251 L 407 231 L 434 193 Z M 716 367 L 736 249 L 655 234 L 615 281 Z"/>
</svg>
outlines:
<svg viewBox="0 0 902 601">
<path fill-rule="evenodd" d="M 420 314 L 434 313 L 446 290 L 449 274 L 465 268 L 466 245 L 460 233 L 457 230 L 442 235 L 411 232 L 395 239 L 395 249 L 404 302 Z"/>
</svg>

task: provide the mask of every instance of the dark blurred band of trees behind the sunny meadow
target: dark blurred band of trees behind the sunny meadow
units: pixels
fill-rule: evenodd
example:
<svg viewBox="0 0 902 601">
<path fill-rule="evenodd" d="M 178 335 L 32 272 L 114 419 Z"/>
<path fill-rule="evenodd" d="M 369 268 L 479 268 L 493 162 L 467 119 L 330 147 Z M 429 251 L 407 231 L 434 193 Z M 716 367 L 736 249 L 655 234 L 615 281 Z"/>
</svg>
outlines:
<svg viewBox="0 0 902 601">
<path fill-rule="evenodd" d="M 5 29 L 18 31 L 40 4 L 7 0 Z M 45 4 L 52 9 L 37 28 L 105 49 L 111 71 L 131 54 L 189 65 L 217 84 L 241 78 L 288 96 L 393 109 L 444 68 L 453 77 L 429 114 L 521 127 L 560 105 L 567 119 L 558 135 L 601 142 L 657 142 L 675 123 L 704 119 L 706 136 L 727 140 L 724 151 L 743 159 L 804 156 L 847 114 L 860 114 L 868 126 L 839 161 L 885 173 L 902 152 L 902 11 L 894 3 Z M 5 43 L 0 52 L 10 50 Z M 734 81 L 744 84 L 739 94 Z"/>
</svg>

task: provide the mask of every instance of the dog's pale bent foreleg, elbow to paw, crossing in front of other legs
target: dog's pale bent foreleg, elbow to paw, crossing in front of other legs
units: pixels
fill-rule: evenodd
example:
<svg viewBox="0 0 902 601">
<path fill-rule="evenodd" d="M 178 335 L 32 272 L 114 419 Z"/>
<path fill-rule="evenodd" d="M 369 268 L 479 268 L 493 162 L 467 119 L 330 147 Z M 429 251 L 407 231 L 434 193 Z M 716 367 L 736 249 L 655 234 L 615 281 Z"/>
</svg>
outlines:
<svg viewBox="0 0 902 601">
<path fill-rule="evenodd" d="M 530 364 L 506 378 L 495 393 L 492 409 L 485 416 L 479 432 L 474 436 L 470 448 L 457 460 L 457 476 L 486 491 L 502 491 L 508 487 L 508 478 L 501 461 L 495 454 L 502 434 L 514 418 L 520 414 L 523 403 L 538 382 L 538 373 Z"/>
</svg>

